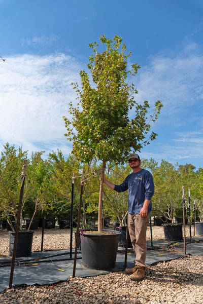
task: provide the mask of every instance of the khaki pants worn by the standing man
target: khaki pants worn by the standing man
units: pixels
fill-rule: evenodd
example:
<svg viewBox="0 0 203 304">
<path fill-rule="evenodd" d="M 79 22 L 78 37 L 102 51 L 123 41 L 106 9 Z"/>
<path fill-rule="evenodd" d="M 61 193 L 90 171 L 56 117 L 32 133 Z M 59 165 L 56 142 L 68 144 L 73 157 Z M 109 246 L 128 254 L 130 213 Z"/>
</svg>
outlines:
<svg viewBox="0 0 203 304">
<path fill-rule="evenodd" d="M 147 217 L 141 217 L 140 214 L 128 214 L 128 230 L 134 254 L 135 262 L 138 266 L 145 267 L 147 255 L 147 224 L 149 222 L 150 213 Z"/>
</svg>

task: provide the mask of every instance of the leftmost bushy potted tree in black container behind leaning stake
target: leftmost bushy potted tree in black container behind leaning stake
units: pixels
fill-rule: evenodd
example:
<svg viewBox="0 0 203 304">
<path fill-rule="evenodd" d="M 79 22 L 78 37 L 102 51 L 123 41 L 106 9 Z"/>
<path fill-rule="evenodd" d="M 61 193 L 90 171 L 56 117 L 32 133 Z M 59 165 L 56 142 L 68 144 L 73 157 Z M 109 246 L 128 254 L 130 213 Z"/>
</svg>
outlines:
<svg viewBox="0 0 203 304">
<path fill-rule="evenodd" d="M 3 211 L 4 216 L 7 217 L 8 224 L 12 229 L 9 231 L 10 255 L 13 253 L 15 222 L 17 221 L 18 204 L 20 197 L 21 180 L 19 177 L 22 172 L 23 162 L 26 156 L 26 151 L 23 152 L 21 147 L 19 147 L 19 149 L 16 149 L 14 145 L 10 146 L 9 143 L 7 143 L 4 145 L 4 150 L 2 151 L 2 157 L 0 160 L 0 209 Z M 28 195 L 28 188 L 25 187 L 22 199 L 22 208 L 24 207 Z M 21 213 L 16 256 L 31 254 L 32 239 L 33 231 L 23 230 Z"/>
</svg>

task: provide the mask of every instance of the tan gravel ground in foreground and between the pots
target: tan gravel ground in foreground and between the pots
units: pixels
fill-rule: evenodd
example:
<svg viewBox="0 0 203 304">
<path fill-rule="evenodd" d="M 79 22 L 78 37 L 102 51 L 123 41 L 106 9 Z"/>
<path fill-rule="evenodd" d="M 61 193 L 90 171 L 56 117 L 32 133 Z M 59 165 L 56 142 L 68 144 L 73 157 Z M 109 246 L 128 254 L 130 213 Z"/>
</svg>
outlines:
<svg viewBox="0 0 203 304">
<path fill-rule="evenodd" d="M 153 239 L 164 239 L 163 227 L 153 226 Z M 192 227 L 193 235 L 193 227 Z M 189 228 L 186 227 L 186 237 Z M 147 231 L 150 240 L 150 227 Z M 0 254 L 8 255 L 8 232 L 0 230 Z M 70 230 L 45 230 L 44 250 L 70 248 Z M 41 229 L 35 231 L 32 251 L 41 249 Z M 169 248 L 168 250 L 178 250 Z M 179 250 L 182 250 L 179 248 Z M 182 250 L 183 252 L 183 250 Z M 185 304 L 203 303 L 203 255 L 178 258 L 150 265 L 140 282 L 125 272 L 89 278 L 70 278 L 54 285 L 20 286 L 0 294 L 0 303 L 112 303 Z"/>
</svg>

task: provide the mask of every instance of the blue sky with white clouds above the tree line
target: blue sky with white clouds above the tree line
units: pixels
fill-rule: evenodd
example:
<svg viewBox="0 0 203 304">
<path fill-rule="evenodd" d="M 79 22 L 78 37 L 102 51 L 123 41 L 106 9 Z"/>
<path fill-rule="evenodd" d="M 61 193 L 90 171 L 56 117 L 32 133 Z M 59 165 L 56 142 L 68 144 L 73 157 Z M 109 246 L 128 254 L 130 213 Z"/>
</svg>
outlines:
<svg viewBox="0 0 203 304">
<path fill-rule="evenodd" d="M 141 65 L 135 99 L 164 106 L 140 156 L 202 166 L 202 0 L 0 0 L 0 27 L 0 150 L 70 154 L 71 83 L 88 70 L 89 43 L 119 35 Z"/>
</svg>

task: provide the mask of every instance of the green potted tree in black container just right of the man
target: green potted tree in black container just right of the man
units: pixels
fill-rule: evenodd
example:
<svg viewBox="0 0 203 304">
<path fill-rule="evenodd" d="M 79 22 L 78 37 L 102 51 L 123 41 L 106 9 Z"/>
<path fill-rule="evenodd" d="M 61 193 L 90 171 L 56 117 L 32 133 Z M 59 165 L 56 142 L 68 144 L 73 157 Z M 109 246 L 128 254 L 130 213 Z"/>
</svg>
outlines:
<svg viewBox="0 0 203 304">
<path fill-rule="evenodd" d="M 156 164 L 151 167 L 156 188 L 153 196 L 153 214 L 162 219 L 165 239 L 183 238 L 182 186 L 184 185 L 185 189 L 194 188 L 194 168 L 191 164 L 178 166 L 164 160 L 160 166 Z M 182 215 L 182 222 L 178 222 L 177 215 Z"/>
</svg>

